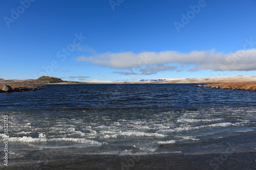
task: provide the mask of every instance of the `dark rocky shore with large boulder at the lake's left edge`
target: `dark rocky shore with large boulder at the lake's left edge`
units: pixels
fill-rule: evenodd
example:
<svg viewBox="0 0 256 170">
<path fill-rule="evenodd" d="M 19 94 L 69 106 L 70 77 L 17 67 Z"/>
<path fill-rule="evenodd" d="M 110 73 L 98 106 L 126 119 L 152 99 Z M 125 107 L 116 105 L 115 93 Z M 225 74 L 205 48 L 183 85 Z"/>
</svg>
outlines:
<svg viewBox="0 0 256 170">
<path fill-rule="evenodd" d="M 22 86 L 19 86 L 19 85 L 12 85 L 9 86 L 9 85 L 4 85 L 3 88 L 2 86 L 0 85 L 0 93 L 4 93 L 4 92 L 22 92 L 22 91 L 35 91 L 35 90 L 41 90 L 42 88 L 40 87 L 45 87 L 46 85 L 38 85 L 38 86 L 34 86 L 34 85 L 22 85 Z"/>
</svg>

